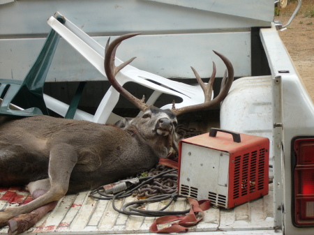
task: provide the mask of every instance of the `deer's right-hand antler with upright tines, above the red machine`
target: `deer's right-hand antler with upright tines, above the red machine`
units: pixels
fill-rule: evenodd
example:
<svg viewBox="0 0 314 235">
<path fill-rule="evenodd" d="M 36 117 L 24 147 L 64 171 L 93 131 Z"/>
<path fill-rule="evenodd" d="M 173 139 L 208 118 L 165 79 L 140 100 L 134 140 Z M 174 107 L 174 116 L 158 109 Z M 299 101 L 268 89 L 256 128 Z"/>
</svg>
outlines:
<svg viewBox="0 0 314 235">
<path fill-rule="evenodd" d="M 227 73 L 225 73 L 223 80 L 221 81 L 221 87 L 220 87 L 220 91 L 219 91 L 218 96 L 216 96 L 216 98 L 214 98 L 214 100 L 211 100 L 211 93 L 213 91 L 213 84 L 214 84 L 214 79 L 215 79 L 215 75 L 216 75 L 215 63 L 213 62 L 213 73 L 211 74 L 211 78 L 209 79 L 208 84 L 204 84 L 204 82 L 202 82 L 202 79 L 200 78 L 200 75 L 198 75 L 196 70 L 193 67 L 191 67 L 193 70 L 193 73 L 195 74 L 197 82 L 200 84 L 200 86 L 202 87 L 202 90 L 204 91 L 204 96 L 205 96 L 204 103 L 198 104 L 198 105 L 190 105 L 190 106 L 186 106 L 186 107 L 181 107 L 179 109 L 176 109 L 174 107 L 174 105 L 172 105 L 171 111 L 174 114 L 180 115 L 180 114 L 184 114 L 186 112 L 195 112 L 197 110 L 207 109 L 211 106 L 217 105 L 218 103 L 223 101 L 223 99 L 227 96 L 227 93 L 228 93 L 228 91 L 232 85 L 233 79 L 234 79 L 233 66 L 232 66 L 232 63 L 229 61 L 229 59 L 227 59 L 225 56 L 223 56 L 222 54 L 215 52 L 215 51 L 214 51 L 214 53 L 217 54 L 220 57 L 220 59 L 223 60 L 223 63 L 225 63 L 225 66 L 227 67 Z"/>
</svg>

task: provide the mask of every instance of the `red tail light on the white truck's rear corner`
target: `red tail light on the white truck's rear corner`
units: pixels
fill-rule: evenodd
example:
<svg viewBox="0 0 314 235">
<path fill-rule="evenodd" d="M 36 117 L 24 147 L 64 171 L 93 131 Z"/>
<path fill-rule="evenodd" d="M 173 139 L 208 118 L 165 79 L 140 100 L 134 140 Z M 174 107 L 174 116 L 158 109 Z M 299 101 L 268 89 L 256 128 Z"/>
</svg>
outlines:
<svg viewBox="0 0 314 235">
<path fill-rule="evenodd" d="M 294 224 L 314 226 L 314 139 L 294 141 Z"/>
</svg>

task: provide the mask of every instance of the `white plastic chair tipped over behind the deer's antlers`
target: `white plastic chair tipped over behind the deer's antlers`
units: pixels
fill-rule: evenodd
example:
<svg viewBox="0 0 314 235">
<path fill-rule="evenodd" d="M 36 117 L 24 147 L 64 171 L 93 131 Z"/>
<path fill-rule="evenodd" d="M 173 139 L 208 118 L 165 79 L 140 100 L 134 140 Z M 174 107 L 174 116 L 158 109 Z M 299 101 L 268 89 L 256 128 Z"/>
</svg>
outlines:
<svg viewBox="0 0 314 235">
<path fill-rule="evenodd" d="M 105 48 L 97 43 L 96 40 L 84 33 L 84 31 L 80 28 L 75 26 L 75 24 L 70 22 L 70 20 L 66 19 L 66 17 L 64 17 L 66 19 L 65 24 L 57 22 L 56 17 L 58 15 L 60 15 L 60 13 L 56 13 L 55 17 L 50 17 L 47 24 L 49 24 L 52 29 L 57 31 L 64 40 L 73 46 L 77 52 L 82 54 L 82 56 L 84 56 L 89 63 L 91 63 L 101 74 L 104 75 L 104 77 L 106 77 L 103 66 Z M 117 66 L 123 63 L 117 57 L 115 61 Z M 151 105 L 154 104 L 161 93 L 181 98 L 182 102 L 176 104 L 177 107 L 184 107 L 204 102 L 204 94 L 202 93 L 200 86 L 190 86 L 188 84 L 184 84 L 183 82 L 171 81 L 170 79 L 139 70 L 130 65 L 126 66 L 120 71 L 120 73 L 117 74 L 117 81 L 121 86 L 123 86 L 126 82 L 135 82 L 148 87 L 149 89 L 153 89 L 154 96 L 148 100 L 148 103 Z M 106 123 L 118 100 L 119 93 L 113 88 L 110 88 L 110 90 L 108 90 L 103 97 L 95 115 L 87 114 L 86 112 L 77 109 L 74 118 L 94 121 L 97 123 Z M 57 114 L 60 114 L 61 116 L 66 115 L 68 105 L 65 103 L 47 95 L 45 95 L 45 102 L 47 107 L 52 109 L 54 112 L 57 112 Z M 171 108 L 172 103 L 168 106 Z"/>
</svg>

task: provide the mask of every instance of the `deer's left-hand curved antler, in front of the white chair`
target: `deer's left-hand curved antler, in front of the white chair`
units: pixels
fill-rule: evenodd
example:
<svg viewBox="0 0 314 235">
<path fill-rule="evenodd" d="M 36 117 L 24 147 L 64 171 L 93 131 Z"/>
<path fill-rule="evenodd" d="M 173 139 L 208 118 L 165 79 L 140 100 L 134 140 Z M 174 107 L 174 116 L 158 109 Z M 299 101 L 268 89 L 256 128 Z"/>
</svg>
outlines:
<svg viewBox="0 0 314 235">
<path fill-rule="evenodd" d="M 109 43 L 109 40 L 107 41 L 107 45 L 105 47 L 105 73 L 107 75 L 107 79 L 109 82 L 112 84 L 114 89 L 116 89 L 119 93 L 121 93 L 122 96 L 130 100 L 133 105 L 135 105 L 138 109 L 141 111 L 144 111 L 147 109 L 148 105 L 144 103 L 144 100 L 140 100 L 133 96 L 130 92 L 126 91 L 124 87 L 122 87 L 119 82 L 117 82 L 117 79 L 115 78 L 115 75 L 119 73 L 119 71 L 127 66 L 129 63 L 131 63 L 136 57 L 133 57 L 129 59 L 128 61 L 121 63 L 119 66 L 114 65 L 114 58 L 116 56 L 116 51 L 117 48 L 119 47 L 120 43 L 123 40 L 126 40 L 128 38 L 132 38 L 134 36 L 139 35 L 140 33 L 128 33 L 122 36 L 119 36 L 119 38 L 116 38 L 115 40 L 112 41 L 112 43 Z"/>
</svg>

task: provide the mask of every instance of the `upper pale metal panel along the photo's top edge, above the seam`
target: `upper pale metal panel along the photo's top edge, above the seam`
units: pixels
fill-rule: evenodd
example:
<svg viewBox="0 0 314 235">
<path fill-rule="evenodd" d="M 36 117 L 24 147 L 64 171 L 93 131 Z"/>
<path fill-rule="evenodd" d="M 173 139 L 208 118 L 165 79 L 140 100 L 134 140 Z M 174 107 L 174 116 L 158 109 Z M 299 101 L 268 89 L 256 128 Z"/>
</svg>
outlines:
<svg viewBox="0 0 314 235">
<path fill-rule="evenodd" d="M 197 7 L 204 0 L 190 1 L 188 8 L 144 0 L 15 1 L 0 6 L 0 36 L 37 37 L 38 34 L 47 33 L 49 29 L 45 21 L 57 11 L 93 36 L 132 31 L 180 33 L 269 26 L 273 20 L 268 15 L 274 15 L 274 10 L 267 13 L 269 6 L 274 7 L 274 1 L 270 1 L 238 0 L 233 3 L 220 0 L 216 1 L 215 9 L 211 12 Z M 241 9 L 241 14 L 234 15 L 234 9 Z M 248 18 L 244 13 L 265 15 L 266 19 L 255 20 L 255 17 Z"/>
</svg>

